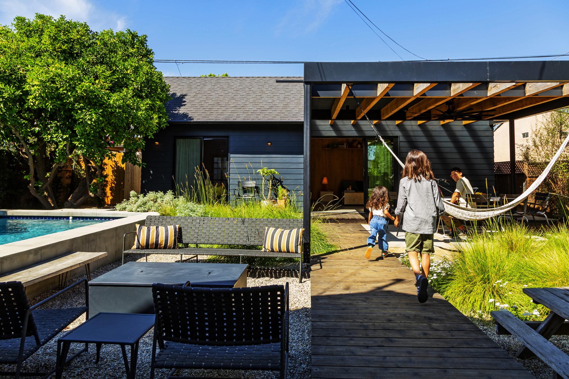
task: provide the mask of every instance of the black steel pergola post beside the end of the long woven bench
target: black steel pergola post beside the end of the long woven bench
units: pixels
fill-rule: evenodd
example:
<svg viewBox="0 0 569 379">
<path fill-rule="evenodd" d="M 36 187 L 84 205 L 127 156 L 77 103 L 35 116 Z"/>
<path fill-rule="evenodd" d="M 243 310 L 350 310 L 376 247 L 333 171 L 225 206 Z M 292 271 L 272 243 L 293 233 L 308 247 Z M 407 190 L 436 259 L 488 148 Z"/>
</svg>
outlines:
<svg viewBox="0 0 569 379">
<path fill-rule="evenodd" d="M 303 198 L 303 224 L 304 246 L 303 261 L 310 264 L 310 107 L 311 84 L 304 83 L 304 198 Z"/>
</svg>

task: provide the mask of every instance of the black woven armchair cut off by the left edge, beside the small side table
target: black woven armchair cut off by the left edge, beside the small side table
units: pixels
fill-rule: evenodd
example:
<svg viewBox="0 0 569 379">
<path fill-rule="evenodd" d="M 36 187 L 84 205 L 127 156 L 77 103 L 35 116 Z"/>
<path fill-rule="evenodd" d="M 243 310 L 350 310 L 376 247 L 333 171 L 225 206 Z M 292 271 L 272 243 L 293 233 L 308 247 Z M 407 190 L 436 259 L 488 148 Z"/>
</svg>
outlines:
<svg viewBox="0 0 569 379">
<path fill-rule="evenodd" d="M 84 307 L 38 309 L 81 283 L 85 283 Z M 15 372 L 0 372 L 0 375 L 10 375 L 16 379 L 20 376 L 43 376 L 44 378 L 51 376 L 55 372 L 55 367 L 47 373 L 22 372 L 22 364 L 88 310 L 87 294 L 87 280 L 84 278 L 30 306 L 22 282 L 0 283 L 0 364 L 16 365 Z M 87 351 L 86 345 L 66 363 L 85 351 Z"/>
</svg>

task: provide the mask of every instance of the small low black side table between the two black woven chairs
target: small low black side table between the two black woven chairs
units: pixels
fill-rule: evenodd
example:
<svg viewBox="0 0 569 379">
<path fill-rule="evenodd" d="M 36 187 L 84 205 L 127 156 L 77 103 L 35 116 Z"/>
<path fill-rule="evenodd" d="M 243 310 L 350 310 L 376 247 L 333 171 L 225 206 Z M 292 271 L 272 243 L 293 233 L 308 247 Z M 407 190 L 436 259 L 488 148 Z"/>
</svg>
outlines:
<svg viewBox="0 0 569 379">
<path fill-rule="evenodd" d="M 154 315 L 133 313 L 97 313 L 83 324 L 57 340 L 56 379 L 61 378 L 69 345 L 94 343 L 97 358 L 100 359 L 101 345 L 120 345 L 122 359 L 125 361 L 126 377 L 134 379 L 137 369 L 138 341 L 154 326 Z M 130 346 L 130 369 L 125 346 Z"/>
</svg>

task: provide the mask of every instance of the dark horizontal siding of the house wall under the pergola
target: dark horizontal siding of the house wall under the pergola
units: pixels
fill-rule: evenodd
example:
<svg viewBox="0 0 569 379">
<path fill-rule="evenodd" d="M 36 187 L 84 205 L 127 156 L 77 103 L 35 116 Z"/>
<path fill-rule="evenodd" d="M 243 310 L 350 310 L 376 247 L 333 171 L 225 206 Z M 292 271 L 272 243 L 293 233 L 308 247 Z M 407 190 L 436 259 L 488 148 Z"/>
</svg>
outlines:
<svg viewBox="0 0 569 379">
<path fill-rule="evenodd" d="M 375 125 L 383 138 L 397 138 L 399 159 L 405 161 L 411 149 L 427 154 L 431 166 L 439 178 L 451 180 L 450 169 L 459 166 L 473 186 L 485 191 L 486 180 L 489 191 L 494 185 L 494 133 L 488 122 L 463 125 L 462 122 L 403 122 L 382 121 Z M 312 120 L 312 138 L 375 138 L 376 134 L 364 120 L 352 125 L 347 120 Z M 453 189 L 453 182 L 443 185 Z"/>
</svg>

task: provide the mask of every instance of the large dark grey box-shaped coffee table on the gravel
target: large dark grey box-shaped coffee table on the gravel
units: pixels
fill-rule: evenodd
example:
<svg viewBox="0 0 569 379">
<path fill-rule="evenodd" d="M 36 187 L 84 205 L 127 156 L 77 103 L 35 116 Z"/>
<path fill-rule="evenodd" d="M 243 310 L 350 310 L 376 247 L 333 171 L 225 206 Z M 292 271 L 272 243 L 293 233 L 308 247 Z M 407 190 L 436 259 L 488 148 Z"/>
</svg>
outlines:
<svg viewBox="0 0 569 379">
<path fill-rule="evenodd" d="M 246 264 L 128 262 L 89 281 L 89 315 L 154 314 L 152 284 L 233 288 L 247 286 Z"/>
</svg>

